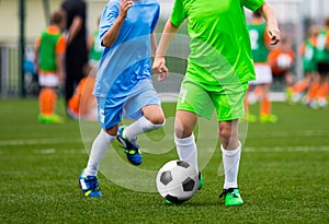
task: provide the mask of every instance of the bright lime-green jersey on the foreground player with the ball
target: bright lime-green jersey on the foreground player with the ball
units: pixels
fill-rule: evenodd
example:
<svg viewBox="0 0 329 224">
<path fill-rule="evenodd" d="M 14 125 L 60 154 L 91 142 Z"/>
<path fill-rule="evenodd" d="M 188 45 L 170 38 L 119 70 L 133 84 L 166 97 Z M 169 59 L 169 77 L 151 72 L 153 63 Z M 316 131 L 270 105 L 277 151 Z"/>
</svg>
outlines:
<svg viewBox="0 0 329 224">
<path fill-rule="evenodd" d="M 189 17 L 191 37 L 186 76 L 207 86 L 254 80 L 243 7 L 256 11 L 264 0 L 175 0 L 171 23 Z"/>
</svg>

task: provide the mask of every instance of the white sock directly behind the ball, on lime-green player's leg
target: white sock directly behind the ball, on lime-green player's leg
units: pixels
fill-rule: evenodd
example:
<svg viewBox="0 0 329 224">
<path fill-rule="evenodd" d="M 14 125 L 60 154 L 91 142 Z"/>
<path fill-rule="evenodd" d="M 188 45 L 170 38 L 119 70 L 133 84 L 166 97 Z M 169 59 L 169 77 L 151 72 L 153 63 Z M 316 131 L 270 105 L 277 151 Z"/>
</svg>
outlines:
<svg viewBox="0 0 329 224">
<path fill-rule="evenodd" d="M 197 167 L 197 150 L 194 141 L 194 134 L 191 137 L 179 139 L 174 135 L 174 143 L 177 148 L 177 152 L 181 161 L 185 161 L 191 166 L 195 167 L 198 172 Z"/>
</svg>

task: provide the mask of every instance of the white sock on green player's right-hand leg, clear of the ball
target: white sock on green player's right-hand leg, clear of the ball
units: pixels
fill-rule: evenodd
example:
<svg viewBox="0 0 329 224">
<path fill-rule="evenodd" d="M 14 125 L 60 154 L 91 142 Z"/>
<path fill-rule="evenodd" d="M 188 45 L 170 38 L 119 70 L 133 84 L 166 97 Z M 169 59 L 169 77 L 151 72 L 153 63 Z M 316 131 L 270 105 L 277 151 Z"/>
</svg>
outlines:
<svg viewBox="0 0 329 224">
<path fill-rule="evenodd" d="M 223 165 L 225 173 L 224 189 L 238 187 L 238 173 L 241 155 L 241 143 L 235 150 L 225 150 L 223 144 L 220 145 L 223 154 Z"/>
</svg>

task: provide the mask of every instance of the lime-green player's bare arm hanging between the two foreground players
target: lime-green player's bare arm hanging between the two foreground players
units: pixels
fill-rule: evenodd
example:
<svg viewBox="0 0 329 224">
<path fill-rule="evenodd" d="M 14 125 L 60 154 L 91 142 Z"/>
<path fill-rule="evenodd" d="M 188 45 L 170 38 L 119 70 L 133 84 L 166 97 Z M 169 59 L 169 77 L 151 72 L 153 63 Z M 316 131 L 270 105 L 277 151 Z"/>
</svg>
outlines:
<svg viewBox="0 0 329 224">
<path fill-rule="evenodd" d="M 157 51 L 156 51 L 156 57 L 155 57 L 155 61 L 154 61 L 154 66 L 152 69 L 155 70 L 155 72 L 159 73 L 159 81 L 164 80 L 168 76 L 168 69 L 166 67 L 166 60 L 164 60 L 164 55 L 174 37 L 174 35 L 177 34 L 179 30 L 179 26 L 174 26 L 171 23 L 171 20 L 168 19 L 164 28 L 163 28 L 163 33 L 161 35 L 159 45 L 157 47 Z"/>
</svg>

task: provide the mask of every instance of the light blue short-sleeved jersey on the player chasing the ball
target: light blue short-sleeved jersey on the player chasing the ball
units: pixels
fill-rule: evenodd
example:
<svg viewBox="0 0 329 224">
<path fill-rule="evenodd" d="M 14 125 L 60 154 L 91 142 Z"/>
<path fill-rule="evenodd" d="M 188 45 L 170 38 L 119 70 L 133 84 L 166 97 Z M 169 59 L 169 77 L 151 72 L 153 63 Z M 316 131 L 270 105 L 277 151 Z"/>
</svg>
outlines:
<svg viewBox="0 0 329 224">
<path fill-rule="evenodd" d="M 103 10 L 99 28 L 101 42 L 118 15 L 120 2 L 110 0 Z M 93 91 L 95 96 L 106 97 L 110 91 L 112 95 L 126 95 L 139 80 L 150 79 L 150 34 L 159 13 L 158 0 L 134 1 L 115 43 L 104 49 Z"/>
</svg>

